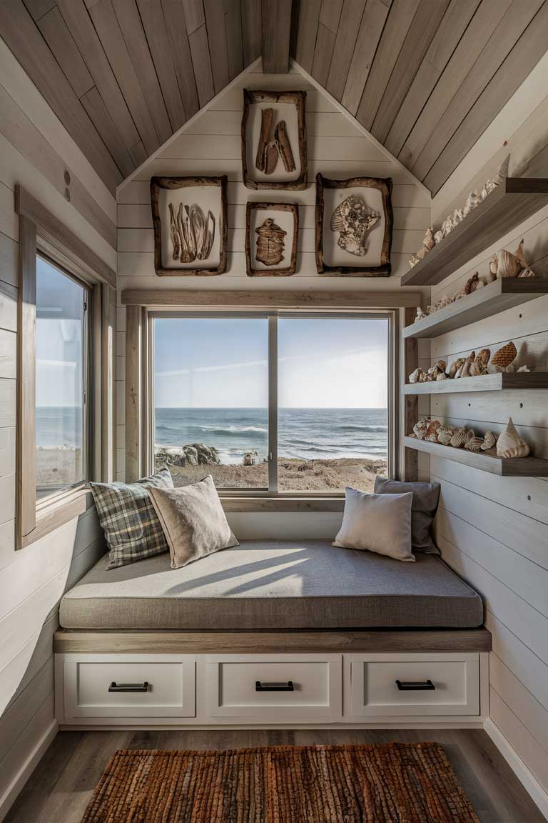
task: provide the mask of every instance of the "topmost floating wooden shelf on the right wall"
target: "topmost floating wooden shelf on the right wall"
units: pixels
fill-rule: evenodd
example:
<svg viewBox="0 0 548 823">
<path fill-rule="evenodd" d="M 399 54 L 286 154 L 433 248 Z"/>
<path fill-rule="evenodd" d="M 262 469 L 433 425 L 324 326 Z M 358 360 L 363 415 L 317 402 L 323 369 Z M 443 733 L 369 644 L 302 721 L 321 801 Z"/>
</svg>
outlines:
<svg viewBox="0 0 548 823">
<path fill-rule="evenodd" d="M 435 286 L 548 203 L 548 178 L 507 177 L 462 223 L 402 277 L 402 286 Z"/>
</svg>

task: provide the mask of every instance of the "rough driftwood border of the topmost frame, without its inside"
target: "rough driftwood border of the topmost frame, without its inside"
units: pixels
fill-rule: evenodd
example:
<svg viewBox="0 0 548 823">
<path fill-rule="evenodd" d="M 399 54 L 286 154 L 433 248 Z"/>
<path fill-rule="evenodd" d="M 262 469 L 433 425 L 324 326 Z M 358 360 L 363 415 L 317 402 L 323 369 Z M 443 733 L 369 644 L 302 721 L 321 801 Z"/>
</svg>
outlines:
<svg viewBox="0 0 548 823">
<path fill-rule="evenodd" d="M 306 91 L 249 91 L 243 90 L 243 114 L 242 114 L 242 171 L 243 182 L 247 188 L 270 188 L 286 189 L 295 191 L 307 188 L 306 177 L 306 123 L 305 123 L 305 99 Z M 295 180 L 288 180 L 284 183 L 272 183 L 268 181 L 252 180 L 247 170 L 247 119 L 249 117 L 249 107 L 253 103 L 292 103 L 297 108 L 297 129 L 299 143 L 299 158 L 301 160 L 301 174 Z"/>
</svg>

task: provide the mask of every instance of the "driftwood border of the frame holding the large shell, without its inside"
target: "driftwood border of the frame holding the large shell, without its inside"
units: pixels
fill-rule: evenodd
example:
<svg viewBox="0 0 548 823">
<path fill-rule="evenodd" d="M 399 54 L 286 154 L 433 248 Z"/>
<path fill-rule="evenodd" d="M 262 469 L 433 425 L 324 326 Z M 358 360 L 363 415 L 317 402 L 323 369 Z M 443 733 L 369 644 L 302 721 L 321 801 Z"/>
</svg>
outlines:
<svg viewBox="0 0 548 823">
<path fill-rule="evenodd" d="M 380 252 L 379 266 L 328 266 L 324 263 L 324 189 L 376 188 L 380 191 L 385 211 L 385 239 Z M 319 274 L 344 274 L 347 277 L 390 277 L 390 249 L 392 248 L 392 179 L 389 177 L 351 177 L 331 180 L 316 174 L 315 178 L 315 264 Z"/>
</svg>

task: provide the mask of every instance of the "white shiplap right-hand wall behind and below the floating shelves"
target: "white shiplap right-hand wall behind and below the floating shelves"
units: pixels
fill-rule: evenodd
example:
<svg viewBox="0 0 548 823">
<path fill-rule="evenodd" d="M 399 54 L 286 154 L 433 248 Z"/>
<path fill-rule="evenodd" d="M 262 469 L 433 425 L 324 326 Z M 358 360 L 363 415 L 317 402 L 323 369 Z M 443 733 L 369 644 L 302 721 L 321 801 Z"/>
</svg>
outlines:
<svg viewBox="0 0 548 823">
<path fill-rule="evenodd" d="M 500 148 L 484 167 L 473 169 L 464 191 L 458 192 L 455 175 L 433 202 L 435 223 L 462 204 L 467 191 L 492 176 L 508 151 L 511 174 L 518 170 L 524 176 L 548 176 L 547 114 L 548 97 L 506 137 L 507 145 L 497 141 Z M 538 275 L 546 276 L 548 208 L 436 286 L 432 300 L 454 294 L 475 271 L 485 275 L 491 254 L 500 248 L 514 251 L 522 238 L 527 260 Z M 435 338 L 431 360 L 452 361 L 484 346 L 494 352 L 509 340 L 518 347 L 518 365 L 548 370 L 548 297 Z M 532 453 L 548 458 L 544 391 L 434 395 L 431 412 L 478 432 L 499 432 L 512 416 Z M 515 754 L 525 765 L 521 774 L 538 802 L 542 790 L 548 792 L 548 481 L 495 477 L 440 458 L 431 458 L 431 479 L 442 486 L 436 532 L 444 560 L 485 599 L 486 625 L 493 635 L 490 720 L 509 743 L 502 751 L 513 765 L 518 762 Z M 548 798 L 542 799 L 546 812 Z"/>
</svg>

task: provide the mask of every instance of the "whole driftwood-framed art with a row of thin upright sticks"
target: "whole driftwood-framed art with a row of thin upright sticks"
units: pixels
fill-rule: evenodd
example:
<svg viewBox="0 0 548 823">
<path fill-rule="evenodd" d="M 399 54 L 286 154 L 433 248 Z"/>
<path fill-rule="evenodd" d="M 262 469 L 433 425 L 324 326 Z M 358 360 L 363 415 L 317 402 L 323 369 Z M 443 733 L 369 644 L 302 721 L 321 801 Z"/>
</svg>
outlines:
<svg viewBox="0 0 548 823">
<path fill-rule="evenodd" d="M 222 177 L 150 179 L 154 269 L 160 277 L 207 276 L 226 272 L 227 180 L 226 174 Z M 192 198 L 192 189 L 196 189 L 196 198 L 202 200 L 201 204 Z M 178 205 L 177 198 L 171 194 L 177 191 L 181 192 Z M 183 200 L 186 201 L 184 207 Z M 209 257 L 211 265 L 208 267 L 206 261 Z M 173 265 L 166 263 L 168 258 Z"/>
</svg>

